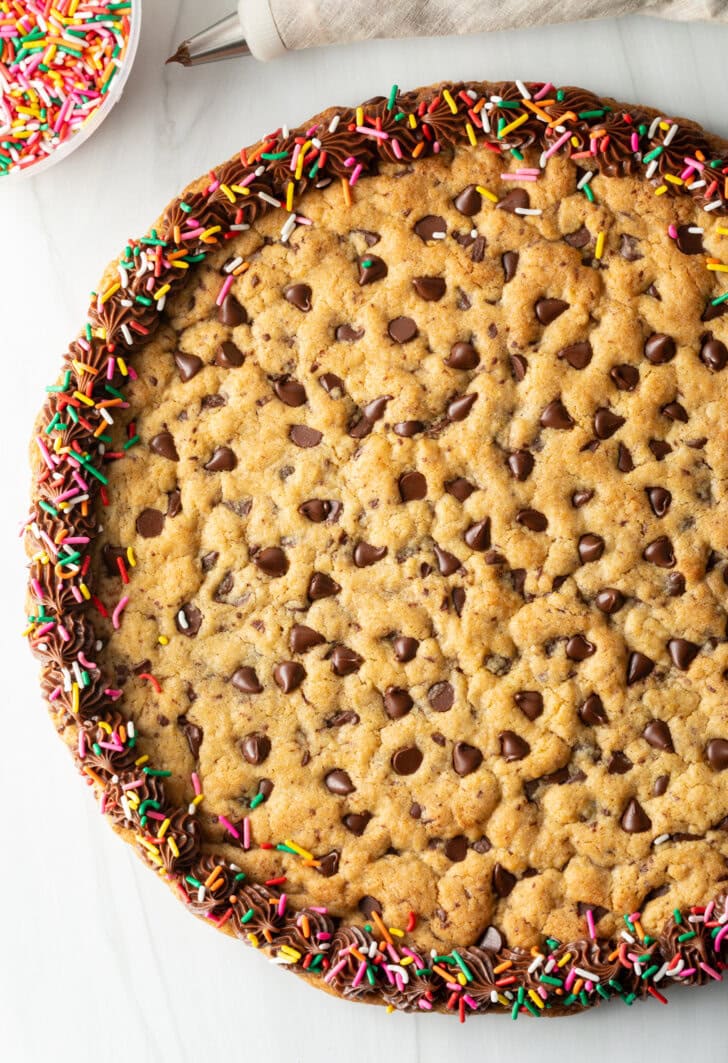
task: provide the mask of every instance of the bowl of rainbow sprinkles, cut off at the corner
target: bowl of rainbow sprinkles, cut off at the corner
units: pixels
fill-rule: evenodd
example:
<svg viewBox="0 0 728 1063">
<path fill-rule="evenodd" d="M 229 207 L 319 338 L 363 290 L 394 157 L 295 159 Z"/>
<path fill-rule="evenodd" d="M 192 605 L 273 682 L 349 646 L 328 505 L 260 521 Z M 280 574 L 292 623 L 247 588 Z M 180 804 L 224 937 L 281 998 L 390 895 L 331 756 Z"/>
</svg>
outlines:
<svg viewBox="0 0 728 1063">
<path fill-rule="evenodd" d="M 140 0 L 0 0 L 0 179 L 70 155 L 120 98 Z"/>
</svg>

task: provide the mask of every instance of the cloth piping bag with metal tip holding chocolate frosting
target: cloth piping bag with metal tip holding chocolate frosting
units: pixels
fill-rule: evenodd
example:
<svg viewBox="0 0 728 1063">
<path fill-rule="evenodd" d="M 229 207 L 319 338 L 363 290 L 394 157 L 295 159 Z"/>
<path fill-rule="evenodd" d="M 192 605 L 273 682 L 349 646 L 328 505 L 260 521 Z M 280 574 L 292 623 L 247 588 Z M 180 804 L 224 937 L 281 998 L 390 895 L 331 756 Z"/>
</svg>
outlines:
<svg viewBox="0 0 728 1063">
<path fill-rule="evenodd" d="M 184 40 L 167 62 L 268 61 L 354 40 L 458 36 L 630 14 L 726 21 L 728 0 L 239 0 L 237 11 Z"/>
</svg>

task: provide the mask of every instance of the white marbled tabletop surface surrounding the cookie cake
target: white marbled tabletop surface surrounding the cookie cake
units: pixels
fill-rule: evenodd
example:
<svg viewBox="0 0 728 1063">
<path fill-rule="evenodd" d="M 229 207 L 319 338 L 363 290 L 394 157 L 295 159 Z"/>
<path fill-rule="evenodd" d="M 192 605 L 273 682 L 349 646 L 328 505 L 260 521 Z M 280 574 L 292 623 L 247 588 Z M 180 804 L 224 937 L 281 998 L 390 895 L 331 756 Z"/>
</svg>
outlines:
<svg viewBox="0 0 728 1063">
<path fill-rule="evenodd" d="M 0 186 L 0 1059 L 538 1060 L 728 1056 L 726 988 L 558 1022 L 387 1015 L 334 1000 L 189 916 L 113 836 L 37 694 L 22 645 L 26 439 L 87 293 L 192 176 L 331 103 L 441 79 L 552 80 L 689 115 L 728 136 L 728 27 L 624 19 L 464 40 L 374 43 L 183 70 L 176 43 L 232 0 L 145 0 L 124 97 L 47 174 Z M 94 1047 L 96 1046 L 96 1047 Z M 97 1056 L 98 1053 L 98 1056 Z"/>
</svg>

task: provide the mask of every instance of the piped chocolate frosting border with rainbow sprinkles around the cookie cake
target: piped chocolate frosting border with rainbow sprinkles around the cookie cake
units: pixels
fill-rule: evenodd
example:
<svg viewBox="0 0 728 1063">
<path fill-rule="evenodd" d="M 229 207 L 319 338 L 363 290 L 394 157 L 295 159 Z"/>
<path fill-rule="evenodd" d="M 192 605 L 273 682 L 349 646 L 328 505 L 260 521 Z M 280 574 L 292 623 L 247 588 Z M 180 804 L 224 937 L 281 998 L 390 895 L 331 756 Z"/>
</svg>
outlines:
<svg viewBox="0 0 728 1063">
<path fill-rule="evenodd" d="M 507 82 L 439 85 L 409 94 L 396 86 L 357 108 L 333 108 L 301 128 L 278 129 L 224 163 L 168 207 L 157 226 L 130 241 L 106 287 L 94 292 L 83 333 L 65 354 L 63 376 L 48 388 L 37 425 L 35 485 L 26 524 L 31 557 L 26 635 L 41 660 L 41 686 L 60 731 L 72 728 L 80 772 L 101 810 L 187 906 L 216 927 L 263 948 L 273 960 L 350 999 L 414 1011 L 448 1011 L 460 1019 L 489 1010 L 569 1014 L 602 999 L 626 1003 L 650 995 L 666 1003 L 670 984 L 722 981 L 728 966 L 728 897 L 676 910 L 656 937 L 639 913 L 625 916 L 622 935 L 596 935 L 586 912 L 585 938 L 546 939 L 541 947 L 509 948 L 490 927 L 477 945 L 442 956 L 407 945 L 407 930 L 372 924 L 343 926 L 325 909 L 294 910 L 285 877 L 254 883 L 240 868 L 203 846 L 194 805 L 174 807 L 165 793 L 163 766 L 135 749 L 137 736 L 94 661 L 95 595 L 90 547 L 95 507 L 106 502 L 104 467 L 123 457 L 108 450 L 105 429 L 114 407 L 128 408 L 124 387 L 134 378 L 128 359 L 154 335 L 169 294 L 187 283 L 210 250 L 255 218 L 281 216 L 281 241 L 307 224 L 294 204 L 307 189 L 340 183 L 342 196 L 384 162 L 411 165 L 458 146 L 481 147 L 517 159 L 541 152 L 582 171 L 589 199 L 597 174 L 641 174 L 656 195 L 690 195 L 706 212 L 728 212 L 728 145 L 691 122 L 625 107 L 580 88 Z M 217 303 L 233 283 L 223 274 Z M 721 316 L 728 292 L 709 301 L 702 320 Z M 126 445 L 133 445 L 132 438 Z M 125 571 L 125 581 L 133 574 Z M 122 573 L 122 578 L 124 576 Z M 132 588 L 130 588 L 131 590 Z M 125 591 L 126 588 L 124 587 Z M 128 601 L 114 610 L 120 623 Z M 153 676 L 147 677 L 151 684 Z M 152 827 L 154 828 L 152 830 Z"/>
</svg>

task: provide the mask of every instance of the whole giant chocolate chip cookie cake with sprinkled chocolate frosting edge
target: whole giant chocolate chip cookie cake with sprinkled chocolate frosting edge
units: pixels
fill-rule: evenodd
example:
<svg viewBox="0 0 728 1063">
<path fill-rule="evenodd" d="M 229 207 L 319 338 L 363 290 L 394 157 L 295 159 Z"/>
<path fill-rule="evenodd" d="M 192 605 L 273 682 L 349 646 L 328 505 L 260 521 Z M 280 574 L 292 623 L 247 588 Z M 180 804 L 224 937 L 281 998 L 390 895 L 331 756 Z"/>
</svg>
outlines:
<svg viewBox="0 0 728 1063">
<path fill-rule="evenodd" d="M 191 912 L 390 1009 L 728 964 L 728 145 L 394 86 L 190 185 L 32 448 L 26 635 Z"/>
</svg>

